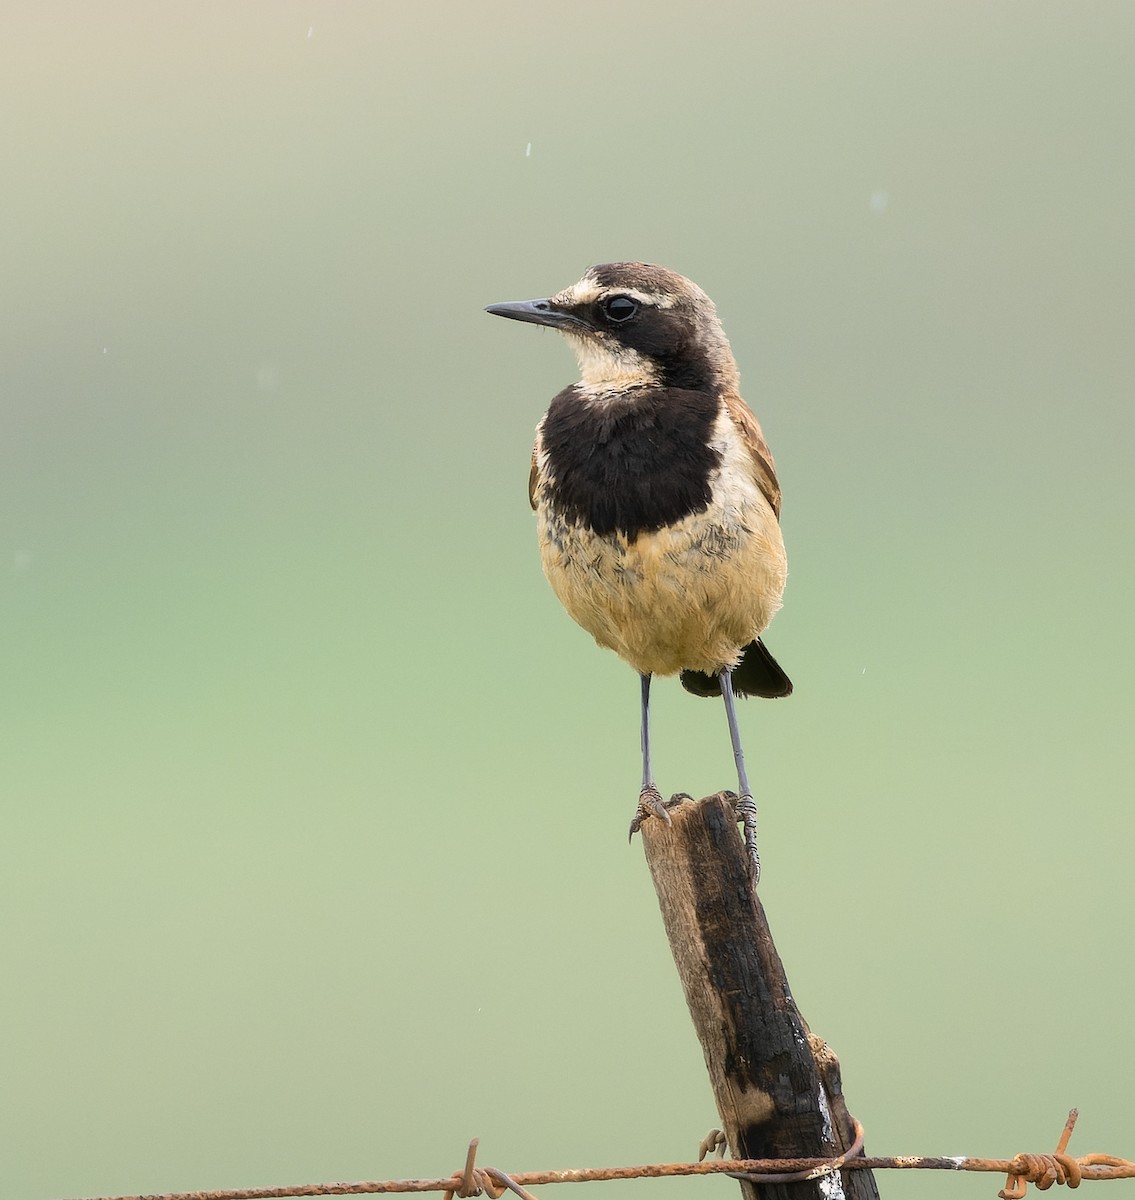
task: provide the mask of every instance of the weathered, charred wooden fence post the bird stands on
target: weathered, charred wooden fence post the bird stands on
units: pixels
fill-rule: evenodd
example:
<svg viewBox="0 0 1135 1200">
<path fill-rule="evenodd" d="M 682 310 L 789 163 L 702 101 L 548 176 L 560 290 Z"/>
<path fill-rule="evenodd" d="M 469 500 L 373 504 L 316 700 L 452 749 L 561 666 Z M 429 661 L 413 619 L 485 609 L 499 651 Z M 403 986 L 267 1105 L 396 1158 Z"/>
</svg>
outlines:
<svg viewBox="0 0 1135 1200">
<path fill-rule="evenodd" d="M 642 827 L 662 923 L 734 1158 L 834 1158 L 854 1141 L 839 1060 L 788 989 L 749 881 L 732 793 L 681 800 Z M 743 1182 L 746 1200 L 878 1200 L 870 1171 Z"/>
</svg>

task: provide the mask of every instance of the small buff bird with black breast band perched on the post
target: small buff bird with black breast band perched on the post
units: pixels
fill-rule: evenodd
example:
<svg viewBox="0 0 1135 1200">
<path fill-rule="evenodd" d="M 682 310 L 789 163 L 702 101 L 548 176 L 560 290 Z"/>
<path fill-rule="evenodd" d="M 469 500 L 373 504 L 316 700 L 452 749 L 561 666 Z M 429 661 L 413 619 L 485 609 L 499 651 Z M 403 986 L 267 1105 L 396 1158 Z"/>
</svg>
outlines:
<svg viewBox="0 0 1135 1200">
<path fill-rule="evenodd" d="M 578 362 L 579 380 L 536 427 L 528 498 L 552 590 L 639 676 L 631 836 L 650 816 L 669 823 L 651 766 L 650 683 L 678 674 L 693 695 L 725 701 L 756 883 L 756 802 L 734 700 L 792 692 L 761 637 L 788 565 L 773 455 L 716 307 L 684 276 L 626 262 L 486 312 L 558 330 Z"/>
</svg>

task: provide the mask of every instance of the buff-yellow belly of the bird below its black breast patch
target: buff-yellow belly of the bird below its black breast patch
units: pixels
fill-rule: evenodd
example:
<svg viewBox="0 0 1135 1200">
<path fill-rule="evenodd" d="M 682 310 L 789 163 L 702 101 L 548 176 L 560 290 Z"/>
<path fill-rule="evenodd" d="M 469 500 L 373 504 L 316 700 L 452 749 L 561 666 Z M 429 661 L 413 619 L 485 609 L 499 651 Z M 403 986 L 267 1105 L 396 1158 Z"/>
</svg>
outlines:
<svg viewBox="0 0 1135 1200">
<path fill-rule="evenodd" d="M 538 508 L 544 572 L 572 619 L 636 671 L 716 672 L 780 607 L 787 564 L 780 524 L 759 494 L 710 504 L 629 540 Z"/>
</svg>

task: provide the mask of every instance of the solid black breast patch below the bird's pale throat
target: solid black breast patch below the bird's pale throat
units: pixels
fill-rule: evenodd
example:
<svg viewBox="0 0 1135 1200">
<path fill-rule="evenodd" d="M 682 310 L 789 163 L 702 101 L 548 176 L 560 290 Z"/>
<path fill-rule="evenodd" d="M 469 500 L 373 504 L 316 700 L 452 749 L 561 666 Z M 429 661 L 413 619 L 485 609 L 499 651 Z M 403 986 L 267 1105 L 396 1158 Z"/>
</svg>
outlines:
<svg viewBox="0 0 1135 1200">
<path fill-rule="evenodd" d="M 548 500 L 565 520 L 633 540 L 709 506 L 716 396 L 636 389 L 618 406 L 562 391 L 544 421 Z"/>
</svg>

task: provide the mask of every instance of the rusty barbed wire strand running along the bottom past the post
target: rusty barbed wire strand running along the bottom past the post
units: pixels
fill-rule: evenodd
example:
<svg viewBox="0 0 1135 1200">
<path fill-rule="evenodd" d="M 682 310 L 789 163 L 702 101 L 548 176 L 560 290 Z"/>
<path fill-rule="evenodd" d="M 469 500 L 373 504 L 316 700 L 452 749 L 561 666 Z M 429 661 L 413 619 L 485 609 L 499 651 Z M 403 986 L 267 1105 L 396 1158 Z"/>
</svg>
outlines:
<svg viewBox="0 0 1135 1200">
<path fill-rule="evenodd" d="M 496 1166 L 478 1166 L 479 1139 L 469 1142 L 466 1165 L 439 1180 L 371 1180 L 358 1183 L 301 1183 L 292 1187 L 226 1188 L 214 1192 L 162 1192 L 137 1195 L 91 1196 L 89 1200 L 296 1200 L 302 1196 L 383 1195 L 407 1192 L 442 1192 L 443 1200 L 470 1200 L 482 1193 L 500 1200 L 512 1192 L 521 1200 L 535 1200 L 529 1186 L 548 1183 L 595 1183 L 617 1180 L 657 1180 L 687 1175 L 728 1175 L 756 1183 L 787 1183 L 819 1178 L 834 1171 L 987 1171 L 1005 1175 L 1001 1200 L 1022 1200 L 1027 1186 L 1044 1192 L 1053 1184 L 1079 1187 L 1086 1180 L 1135 1178 L 1135 1162 L 1115 1154 L 1083 1154 L 1071 1158 L 1068 1139 L 1079 1112 L 1068 1114 L 1064 1132 L 1051 1154 L 1016 1154 L 1013 1158 L 966 1158 L 923 1154 L 867 1158 L 863 1153 L 863 1126 L 855 1122 L 854 1144 L 839 1158 L 765 1158 L 702 1160 L 697 1163 L 650 1163 L 644 1166 L 599 1166 L 566 1171 L 517 1171 L 511 1175 Z M 714 1140 L 713 1144 L 716 1144 Z"/>
</svg>

